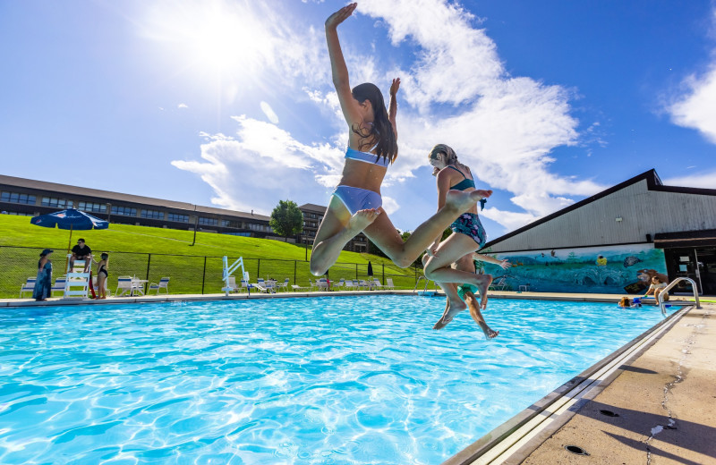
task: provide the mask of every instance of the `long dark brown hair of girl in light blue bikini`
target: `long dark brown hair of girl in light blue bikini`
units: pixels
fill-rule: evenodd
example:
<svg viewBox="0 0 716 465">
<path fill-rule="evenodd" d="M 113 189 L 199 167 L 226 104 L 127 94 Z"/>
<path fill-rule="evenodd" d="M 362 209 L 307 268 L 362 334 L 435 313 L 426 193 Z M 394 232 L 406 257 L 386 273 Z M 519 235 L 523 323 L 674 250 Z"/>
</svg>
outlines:
<svg viewBox="0 0 716 465">
<path fill-rule="evenodd" d="M 375 154 L 378 156 L 376 161 L 382 156 L 391 163 L 395 162 L 397 158 L 396 134 L 393 131 L 393 124 L 388 118 L 388 110 L 386 110 L 385 100 L 380 89 L 375 84 L 365 82 L 355 86 L 351 93 L 359 102 L 370 101 L 373 107 L 373 124 L 370 130 L 362 130 L 359 124 L 354 124 L 351 127 L 351 131 L 361 138 L 358 149 L 365 151 L 376 146 Z"/>
</svg>

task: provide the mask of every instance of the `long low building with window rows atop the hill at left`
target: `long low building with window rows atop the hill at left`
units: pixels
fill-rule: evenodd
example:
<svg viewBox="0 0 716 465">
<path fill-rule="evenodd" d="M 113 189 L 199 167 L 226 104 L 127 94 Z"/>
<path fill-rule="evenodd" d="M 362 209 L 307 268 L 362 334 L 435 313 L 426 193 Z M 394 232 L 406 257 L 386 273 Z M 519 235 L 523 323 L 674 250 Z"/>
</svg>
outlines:
<svg viewBox="0 0 716 465">
<path fill-rule="evenodd" d="M 38 216 L 77 208 L 114 224 L 135 224 L 249 237 L 272 236 L 269 216 L 200 207 L 107 190 L 0 175 L 0 211 Z"/>
</svg>

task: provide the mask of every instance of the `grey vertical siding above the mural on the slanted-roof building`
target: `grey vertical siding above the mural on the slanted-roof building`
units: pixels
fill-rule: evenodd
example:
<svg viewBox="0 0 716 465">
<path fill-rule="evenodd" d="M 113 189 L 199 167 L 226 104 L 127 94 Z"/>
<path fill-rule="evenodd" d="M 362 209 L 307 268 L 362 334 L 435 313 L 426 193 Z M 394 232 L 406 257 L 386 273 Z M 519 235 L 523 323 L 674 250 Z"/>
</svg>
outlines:
<svg viewBox="0 0 716 465">
<path fill-rule="evenodd" d="M 616 221 L 620 217 L 621 221 Z M 493 251 L 646 242 L 657 232 L 716 229 L 716 196 L 648 190 L 635 182 L 494 244 Z"/>
</svg>

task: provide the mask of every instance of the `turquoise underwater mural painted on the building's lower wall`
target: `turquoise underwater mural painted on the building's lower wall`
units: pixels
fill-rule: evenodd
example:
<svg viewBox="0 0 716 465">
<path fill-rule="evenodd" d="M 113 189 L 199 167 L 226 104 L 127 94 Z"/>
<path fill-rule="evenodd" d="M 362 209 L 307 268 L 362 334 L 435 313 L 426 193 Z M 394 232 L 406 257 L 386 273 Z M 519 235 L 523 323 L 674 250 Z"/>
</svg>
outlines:
<svg viewBox="0 0 716 465">
<path fill-rule="evenodd" d="M 504 277 L 511 291 L 528 285 L 533 292 L 639 293 L 654 275 L 668 282 L 664 251 L 652 244 L 483 253 L 509 259 L 512 266 L 507 270 L 491 264 L 482 267 L 496 283 Z"/>
</svg>

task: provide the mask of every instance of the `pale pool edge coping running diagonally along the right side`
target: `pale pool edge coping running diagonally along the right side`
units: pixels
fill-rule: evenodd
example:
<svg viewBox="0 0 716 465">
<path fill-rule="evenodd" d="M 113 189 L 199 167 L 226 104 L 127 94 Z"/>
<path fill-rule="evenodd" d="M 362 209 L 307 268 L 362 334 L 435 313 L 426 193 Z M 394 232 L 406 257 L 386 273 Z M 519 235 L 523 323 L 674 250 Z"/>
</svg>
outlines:
<svg viewBox="0 0 716 465">
<path fill-rule="evenodd" d="M 644 333 L 639 334 L 631 341 L 626 342 L 626 344 L 618 348 L 616 351 L 611 352 L 603 359 L 594 363 L 591 367 L 584 369 L 584 371 L 582 371 L 579 375 L 574 376 L 565 384 L 558 386 L 557 389 L 542 397 L 539 401 L 534 402 L 532 405 L 518 412 L 512 418 L 507 419 L 507 421 L 503 422 L 498 427 L 490 430 L 487 434 L 482 435 L 482 437 L 466 446 L 460 452 L 452 455 L 440 465 L 475 465 L 478 463 L 492 463 L 494 460 L 499 459 L 502 455 L 507 453 L 512 446 L 518 444 L 520 440 L 529 438 L 526 444 L 522 444 L 516 451 L 508 453 L 507 457 L 505 457 L 505 460 L 509 459 L 511 463 L 521 463 L 532 452 L 539 448 L 547 437 L 554 434 L 559 428 L 567 424 L 569 419 L 575 416 L 576 410 L 578 409 L 570 407 L 567 411 L 562 413 L 548 412 L 549 414 L 542 418 L 543 421 L 530 428 L 528 431 L 520 433 L 519 430 L 521 428 L 525 427 L 530 421 L 539 418 L 547 412 L 551 406 L 555 405 L 560 400 L 576 399 L 574 403 L 581 403 L 583 400 L 586 402 L 592 400 L 621 374 L 623 369 L 619 369 L 620 367 L 633 363 L 635 359 L 641 357 L 645 351 L 652 347 L 653 344 L 658 342 L 665 334 L 669 333 L 669 330 L 676 325 L 678 321 L 686 315 L 686 313 L 695 308 L 695 304 L 687 302 L 682 309 L 679 309 L 668 317 L 665 317 L 661 322 L 653 325 L 651 328 L 644 331 Z M 651 340 L 649 340 L 650 337 Z M 635 346 L 637 346 L 640 342 L 644 343 L 635 348 Z M 586 385 L 584 389 L 575 393 L 574 396 L 568 396 L 569 393 L 578 389 L 580 385 L 584 384 L 584 382 L 592 379 L 592 376 L 597 374 L 601 369 L 606 368 L 610 363 L 631 349 L 635 350 L 628 353 L 628 357 L 622 360 L 618 367 L 610 368 L 603 379 L 600 380 L 599 377 L 597 377 L 592 381 L 592 383 Z M 545 420 L 549 418 L 552 418 L 552 424 L 543 425 L 542 423 L 546 423 Z M 511 440 L 510 438 L 513 435 L 519 435 L 519 437 Z M 493 452 L 493 450 L 499 447 L 500 444 L 507 442 L 510 444 L 503 452 L 499 452 L 497 457 L 494 457 L 490 461 L 481 461 L 483 457 L 490 452 Z M 502 461 L 495 463 L 502 463 Z"/>
</svg>

